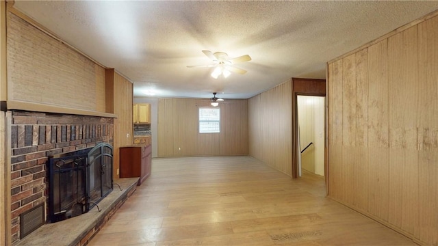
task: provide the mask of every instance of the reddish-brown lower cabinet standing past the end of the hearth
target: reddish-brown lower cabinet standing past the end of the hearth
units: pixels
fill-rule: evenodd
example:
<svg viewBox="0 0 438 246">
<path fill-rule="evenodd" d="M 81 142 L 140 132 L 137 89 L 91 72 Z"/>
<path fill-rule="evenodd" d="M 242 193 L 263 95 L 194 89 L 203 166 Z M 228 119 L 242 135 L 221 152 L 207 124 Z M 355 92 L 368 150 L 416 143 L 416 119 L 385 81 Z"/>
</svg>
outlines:
<svg viewBox="0 0 438 246">
<path fill-rule="evenodd" d="M 151 145 L 120 147 L 120 178 L 140 177 L 140 185 L 151 175 L 151 164 Z"/>
</svg>

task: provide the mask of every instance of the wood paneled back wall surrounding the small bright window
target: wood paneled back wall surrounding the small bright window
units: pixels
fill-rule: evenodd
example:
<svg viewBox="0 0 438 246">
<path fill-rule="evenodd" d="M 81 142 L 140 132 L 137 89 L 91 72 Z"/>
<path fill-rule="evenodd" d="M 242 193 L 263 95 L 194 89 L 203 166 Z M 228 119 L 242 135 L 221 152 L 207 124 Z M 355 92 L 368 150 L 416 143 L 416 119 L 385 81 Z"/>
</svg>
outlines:
<svg viewBox="0 0 438 246">
<path fill-rule="evenodd" d="M 209 100 L 158 100 L 158 156 L 248 154 L 247 100 L 219 103 L 220 133 L 198 133 L 199 107 L 211 107 Z"/>
</svg>

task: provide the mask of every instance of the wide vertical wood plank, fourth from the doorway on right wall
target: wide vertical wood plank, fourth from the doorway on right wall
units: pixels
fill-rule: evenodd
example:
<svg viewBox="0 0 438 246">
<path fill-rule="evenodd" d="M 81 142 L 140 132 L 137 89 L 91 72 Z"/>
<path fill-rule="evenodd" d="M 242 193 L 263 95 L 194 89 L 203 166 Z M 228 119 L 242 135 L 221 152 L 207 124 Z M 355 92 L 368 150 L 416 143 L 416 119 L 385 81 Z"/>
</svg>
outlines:
<svg viewBox="0 0 438 246">
<path fill-rule="evenodd" d="M 368 48 L 368 206 L 369 212 L 388 220 L 389 126 L 387 40 Z"/>
</svg>

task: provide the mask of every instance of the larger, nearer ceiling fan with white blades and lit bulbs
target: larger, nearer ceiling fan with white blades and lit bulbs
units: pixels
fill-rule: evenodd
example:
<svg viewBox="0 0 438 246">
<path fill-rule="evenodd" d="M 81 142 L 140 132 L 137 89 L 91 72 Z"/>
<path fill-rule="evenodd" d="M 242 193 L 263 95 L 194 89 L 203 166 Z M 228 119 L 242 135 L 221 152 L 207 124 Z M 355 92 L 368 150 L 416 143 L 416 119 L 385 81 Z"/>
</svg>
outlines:
<svg viewBox="0 0 438 246">
<path fill-rule="evenodd" d="M 187 66 L 188 68 L 212 68 L 216 67 L 213 72 L 211 72 L 211 77 L 214 77 L 214 79 L 218 79 L 218 77 L 222 74 L 225 78 L 229 77 L 231 72 L 236 72 L 238 74 L 245 74 L 246 70 L 243 70 L 241 68 L 235 68 L 233 67 L 234 64 L 244 62 L 244 61 L 250 61 L 251 57 L 249 55 L 242 55 L 240 57 L 235 57 L 232 59 L 229 59 L 227 53 L 224 52 L 215 52 L 212 53 L 211 51 L 203 51 L 207 57 L 211 59 L 211 61 L 214 62 L 214 64 L 211 65 L 196 65 L 196 66 Z"/>
</svg>

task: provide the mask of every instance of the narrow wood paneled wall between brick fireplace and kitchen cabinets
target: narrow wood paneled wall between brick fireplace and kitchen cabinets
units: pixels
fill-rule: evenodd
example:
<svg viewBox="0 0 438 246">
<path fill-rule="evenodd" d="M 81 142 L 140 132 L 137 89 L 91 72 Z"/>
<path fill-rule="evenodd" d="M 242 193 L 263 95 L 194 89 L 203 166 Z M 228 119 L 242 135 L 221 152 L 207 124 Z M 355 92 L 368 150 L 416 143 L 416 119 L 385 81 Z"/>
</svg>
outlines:
<svg viewBox="0 0 438 246">
<path fill-rule="evenodd" d="M 114 69 L 110 69 L 114 72 Z M 117 169 L 120 167 L 121 146 L 133 143 L 132 104 L 133 83 L 114 72 L 114 177 L 118 178 Z"/>
</svg>

